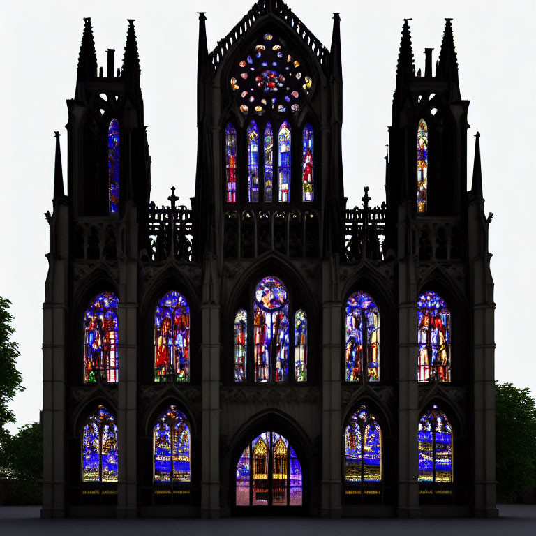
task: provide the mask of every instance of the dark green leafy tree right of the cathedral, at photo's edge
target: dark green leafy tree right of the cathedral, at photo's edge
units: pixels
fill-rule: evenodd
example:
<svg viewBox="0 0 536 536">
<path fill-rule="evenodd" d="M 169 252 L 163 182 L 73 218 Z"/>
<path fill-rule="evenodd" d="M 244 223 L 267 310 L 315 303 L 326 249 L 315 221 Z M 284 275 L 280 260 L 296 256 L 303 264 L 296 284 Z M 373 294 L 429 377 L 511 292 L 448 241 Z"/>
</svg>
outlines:
<svg viewBox="0 0 536 536">
<path fill-rule="evenodd" d="M 530 389 L 496 385 L 497 498 L 519 502 L 536 487 L 536 404 Z"/>
</svg>

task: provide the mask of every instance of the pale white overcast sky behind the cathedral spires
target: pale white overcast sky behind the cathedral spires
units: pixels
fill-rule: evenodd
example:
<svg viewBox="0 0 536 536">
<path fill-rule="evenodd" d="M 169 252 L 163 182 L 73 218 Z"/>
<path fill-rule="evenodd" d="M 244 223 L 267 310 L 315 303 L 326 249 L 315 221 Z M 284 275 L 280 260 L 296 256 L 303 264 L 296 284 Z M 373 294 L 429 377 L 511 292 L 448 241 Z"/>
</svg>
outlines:
<svg viewBox="0 0 536 536">
<path fill-rule="evenodd" d="M 27 388 L 11 406 L 19 426 L 38 420 L 42 406 L 42 304 L 49 247 L 43 213 L 52 210 L 53 131 L 66 133 L 65 101 L 74 96 L 83 17 L 93 21 L 98 64 L 105 71 L 107 48 L 117 51 L 116 68 L 121 66 L 127 19 L 136 20 L 152 159 L 151 198 L 167 204 L 169 188 L 176 186 L 179 202 L 186 203 L 195 181 L 196 12 L 207 12 L 211 50 L 252 5 L 253 0 L 0 3 L 0 295 L 13 302 L 21 351 L 17 367 Z M 372 204 L 385 200 L 383 157 L 403 19 L 412 17 L 415 63 L 423 71 L 424 47 L 435 49 L 435 64 L 444 19 L 454 19 L 461 96 L 471 102 L 468 179 L 479 131 L 485 209 L 495 214 L 489 245 L 496 283 L 496 378 L 530 387 L 536 394 L 532 341 L 524 337 L 524 321 L 515 330 L 512 323 L 532 318 L 536 297 L 536 2 L 290 0 L 288 6 L 328 48 L 332 11 L 341 12 L 348 207 L 361 203 L 364 186 L 371 188 Z M 169 101 L 176 105 L 166 105 Z M 66 177 L 65 135 L 61 149 Z"/>
</svg>

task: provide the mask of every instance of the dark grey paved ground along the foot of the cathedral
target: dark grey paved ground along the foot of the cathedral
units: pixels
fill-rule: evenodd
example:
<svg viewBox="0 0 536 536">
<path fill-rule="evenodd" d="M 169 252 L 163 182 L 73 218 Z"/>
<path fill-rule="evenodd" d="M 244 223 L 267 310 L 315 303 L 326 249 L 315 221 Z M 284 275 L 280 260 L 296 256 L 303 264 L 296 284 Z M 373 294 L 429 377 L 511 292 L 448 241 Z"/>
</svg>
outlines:
<svg viewBox="0 0 536 536">
<path fill-rule="evenodd" d="M 37 506 L 0 506 L 0 535 L 517 536 L 536 535 L 536 505 L 500 505 L 499 519 L 40 519 Z"/>
</svg>

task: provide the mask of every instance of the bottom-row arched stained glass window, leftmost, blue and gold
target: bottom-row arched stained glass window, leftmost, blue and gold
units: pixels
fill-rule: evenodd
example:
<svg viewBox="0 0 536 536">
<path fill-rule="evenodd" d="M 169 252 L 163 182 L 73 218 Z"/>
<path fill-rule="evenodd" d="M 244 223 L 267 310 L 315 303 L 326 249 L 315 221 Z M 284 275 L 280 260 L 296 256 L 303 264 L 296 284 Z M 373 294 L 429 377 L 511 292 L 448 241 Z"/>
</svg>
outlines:
<svg viewBox="0 0 536 536">
<path fill-rule="evenodd" d="M 82 434 L 82 482 L 117 482 L 117 474 L 117 426 L 99 405 Z"/>
</svg>

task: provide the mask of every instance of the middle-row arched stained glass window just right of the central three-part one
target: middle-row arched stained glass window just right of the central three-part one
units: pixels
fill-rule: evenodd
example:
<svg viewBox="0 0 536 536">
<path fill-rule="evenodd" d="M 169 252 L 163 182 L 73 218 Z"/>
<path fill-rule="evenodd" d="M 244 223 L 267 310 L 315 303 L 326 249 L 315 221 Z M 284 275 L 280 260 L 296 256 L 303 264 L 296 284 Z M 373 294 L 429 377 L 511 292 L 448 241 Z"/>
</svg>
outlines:
<svg viewBox="0 0 536 536">
<path fill-rule="evenodd" d="M 380 313 L 364 292 L 355 292 L 346 302 L 345 370 L 347 382 L 380 380 Z"/>
</svg>

